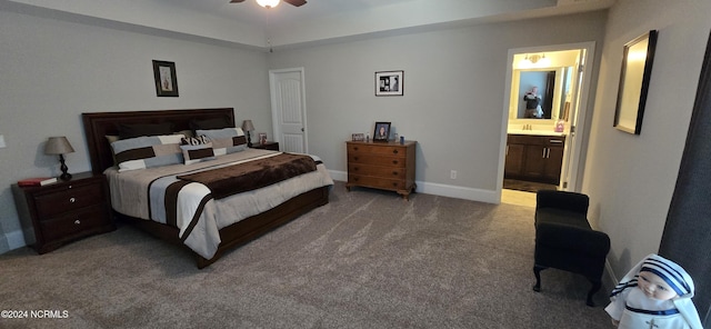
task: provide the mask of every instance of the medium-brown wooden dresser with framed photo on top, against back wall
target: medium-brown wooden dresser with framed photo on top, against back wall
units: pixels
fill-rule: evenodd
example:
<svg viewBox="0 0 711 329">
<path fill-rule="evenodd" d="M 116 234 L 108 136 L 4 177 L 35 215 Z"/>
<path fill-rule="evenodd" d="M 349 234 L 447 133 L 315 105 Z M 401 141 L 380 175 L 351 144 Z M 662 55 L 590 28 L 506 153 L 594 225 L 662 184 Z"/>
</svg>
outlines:
<svg viewBox="0 0 711 329">
<path fill-rule="evenodd" d="M 367 187 L 395 191 L 405 200 L 417 188 L 414 150 L 417 141 L 347 141 L 348 182 L 346 188 Z"/>
</svg>

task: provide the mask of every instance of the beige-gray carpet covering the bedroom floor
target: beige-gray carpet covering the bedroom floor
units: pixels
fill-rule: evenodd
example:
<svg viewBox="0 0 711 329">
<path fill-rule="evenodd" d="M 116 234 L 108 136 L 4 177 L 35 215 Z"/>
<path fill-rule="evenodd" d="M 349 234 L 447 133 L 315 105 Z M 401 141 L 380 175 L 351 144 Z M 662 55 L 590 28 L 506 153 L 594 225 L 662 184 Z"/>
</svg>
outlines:
<svg viewBox="0 0 711 329">
<path fill-rule="evenodd" d="M 38 256 L 0 256 L 1 328 L 610 328 L 588 281 L 549 269 L 534 292 L 533 208 L 337 183 L 331 203 L 198 270 L 121 226 Z"/>
</svg>

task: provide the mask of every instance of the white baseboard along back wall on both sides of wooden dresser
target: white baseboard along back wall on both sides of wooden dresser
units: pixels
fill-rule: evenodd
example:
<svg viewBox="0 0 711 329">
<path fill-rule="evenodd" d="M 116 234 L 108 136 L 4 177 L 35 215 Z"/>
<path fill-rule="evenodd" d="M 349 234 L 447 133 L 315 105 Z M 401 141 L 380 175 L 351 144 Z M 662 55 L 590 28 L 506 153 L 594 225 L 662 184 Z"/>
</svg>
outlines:
<svg viewBox="0 0 711 329">
<path fill-rule="evenodd" d="M 329 170 L 331 178 L 338 181 L 348 181 L 348 172 Z M 434 195 L 440 197 L 449 197 L 487 203 L 501 203 L 501 195 L 494 190 L 481 190 L 465 187 L 457 187 L 442 183 L 415 181 L 415 192 Z"/>
</svg>

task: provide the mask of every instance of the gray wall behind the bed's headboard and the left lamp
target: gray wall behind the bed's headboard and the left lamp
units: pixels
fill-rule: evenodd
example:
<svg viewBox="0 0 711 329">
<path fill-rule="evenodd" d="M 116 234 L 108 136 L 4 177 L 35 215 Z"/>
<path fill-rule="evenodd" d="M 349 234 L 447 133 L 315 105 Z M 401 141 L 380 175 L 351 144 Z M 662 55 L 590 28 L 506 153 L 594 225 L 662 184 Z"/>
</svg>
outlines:
<svg viewBox="0 0 711 329">
<path fill-rule="evenodd" d="M 233 107 L 238 122 L 271 133 L 261 52 L 8 11 L 0 49 L 0 252 L 23 243 L 10 185 L 59 173 L 57 157 L 43 154 L 48 137 L 72 143 L 70 172 L 90 170 L 81 112 Z M 153 59 L 176 62 L 180 97 L 156 97 Z"/>
</svg>

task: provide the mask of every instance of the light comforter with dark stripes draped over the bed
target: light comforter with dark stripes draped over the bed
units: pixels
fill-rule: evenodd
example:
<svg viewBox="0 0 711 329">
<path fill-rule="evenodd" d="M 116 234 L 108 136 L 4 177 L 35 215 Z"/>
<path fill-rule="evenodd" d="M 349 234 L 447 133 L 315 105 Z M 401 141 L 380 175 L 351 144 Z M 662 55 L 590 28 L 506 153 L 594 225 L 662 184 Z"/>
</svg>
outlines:
<svg viewBox="0 0 711 329">
<path fill-rule="evenodd" d="M 316 171 L 222 199 L 213 198 L 210 189 L 202 183 L 177 177 L 276 154 L 280 152 L 247 149 L 189 166 L 172 164 L 126 172 L 110 168 L 104 173 L 109 179 L 116 211 L 173 226 L 180 230 L 180 239 L 186 246 L 211 259 L 220 245 L 220 229 L 264 212 L 306 191 L 332 186 L 333 180 L 326 166 L 314 156 L 312 158 L 318 163 Z"/>
</svg>

